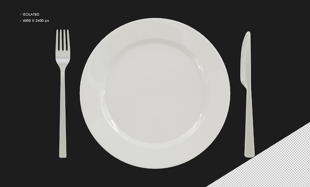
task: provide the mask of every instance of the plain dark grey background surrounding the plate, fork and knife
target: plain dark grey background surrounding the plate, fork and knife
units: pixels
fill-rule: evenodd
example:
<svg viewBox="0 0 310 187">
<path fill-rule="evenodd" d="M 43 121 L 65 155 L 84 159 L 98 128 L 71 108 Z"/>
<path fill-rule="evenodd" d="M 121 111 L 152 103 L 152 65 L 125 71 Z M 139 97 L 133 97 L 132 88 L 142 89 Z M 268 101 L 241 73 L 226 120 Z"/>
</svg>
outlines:
<svg viewBox="0 0 310 187">
<path fill-rule="evenodd" d="M 5 17 L 2 92 L 8 124 L 2 124 L 1 131 L 5 139 L 2 169 L 3 178 L 11 184 L 206 187 L 246 162 L 246 90 L 239 74 L 247 31 L 252 35 L 256 153 L 310 122 L 309 13 L 305 4 L 188 1 L 64 7 L 70 9 L 56 9 L 48 3 L 39 8 L 19 4 Z M 50 21 L 24 23 L 20 20 L 28 17 L 20 16 L 22 12 L 39 12 L 38 18 Z M 147 17 L 177 20 L 202 33 L 221 55 L 231 85 L 228 116 L 214 142 L 195 159 L 159 170 L 137 168 L 109 155 L 92 137 L 79 103 L 83 67 L 96 45 L 117 27 Z M 71 61 L 66 69 L 66 159 L 58 158 L 56 29 L 69 29 L 71 40 Z"/>
</svg>

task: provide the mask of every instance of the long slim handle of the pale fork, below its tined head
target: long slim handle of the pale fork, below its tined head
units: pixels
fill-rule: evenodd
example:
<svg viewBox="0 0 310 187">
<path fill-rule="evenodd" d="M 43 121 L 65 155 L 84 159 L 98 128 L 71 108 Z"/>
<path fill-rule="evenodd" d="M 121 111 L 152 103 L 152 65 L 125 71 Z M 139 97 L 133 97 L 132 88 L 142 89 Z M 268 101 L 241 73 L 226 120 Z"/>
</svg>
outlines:
<svg viewBox="0 0 310 187">
<path fill-rule="evenodd" d="M 60 70 L 59 158 L 67 157 L 65 70 Z"/>
</svg>

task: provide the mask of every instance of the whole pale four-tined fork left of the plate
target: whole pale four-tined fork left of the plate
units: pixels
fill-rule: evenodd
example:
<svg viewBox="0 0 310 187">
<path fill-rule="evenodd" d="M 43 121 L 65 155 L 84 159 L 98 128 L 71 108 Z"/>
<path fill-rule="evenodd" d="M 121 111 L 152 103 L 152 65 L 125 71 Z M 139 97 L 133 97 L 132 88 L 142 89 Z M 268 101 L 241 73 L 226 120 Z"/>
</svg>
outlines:
<svg viewBox="0 0 310 187">
<path fill-rule="evenodd" d="M 67 34 L 66 34 L 67 33 Z M 59 44 L 59 48 L 58 48 Z M 69 30 L 67 32 L 56 30 L 55 59 L 60 69 L 60 114 L 59 114 L 59 158 L 67 157 L 66 146 L 66 102 L 65 102 L 65 70 L 70 62 L 70 38 Z"/>
</svg>

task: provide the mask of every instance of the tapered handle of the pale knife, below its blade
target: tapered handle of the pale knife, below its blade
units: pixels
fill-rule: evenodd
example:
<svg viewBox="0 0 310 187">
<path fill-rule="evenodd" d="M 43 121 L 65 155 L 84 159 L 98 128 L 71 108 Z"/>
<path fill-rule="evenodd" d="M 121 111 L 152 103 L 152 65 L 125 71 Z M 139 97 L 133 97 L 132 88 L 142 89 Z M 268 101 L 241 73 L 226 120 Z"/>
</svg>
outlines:
<svg viewBox="0 0 310 187">
<path fill-rule="evenodd" d="M 244 156 L 247 158 L 252 158 L 255 156 L 251 87 L 250 89 L 247 89 Z"/>
</svg>

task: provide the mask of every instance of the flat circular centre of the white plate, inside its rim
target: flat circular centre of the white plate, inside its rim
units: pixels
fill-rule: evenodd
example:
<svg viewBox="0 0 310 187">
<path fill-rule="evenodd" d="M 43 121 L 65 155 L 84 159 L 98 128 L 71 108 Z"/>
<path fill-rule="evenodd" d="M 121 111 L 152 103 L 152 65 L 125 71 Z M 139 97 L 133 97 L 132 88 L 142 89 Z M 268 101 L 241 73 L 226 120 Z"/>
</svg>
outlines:
<svg viewBox="0 0 310 187">
<path fill-rule="evenodd" d="M 206 81 L 178 45 L 141 42 L 124 50 L 104 85 L 109 123 L 136 140 L 171 141 L 202 119 Z"/>
</svg>

